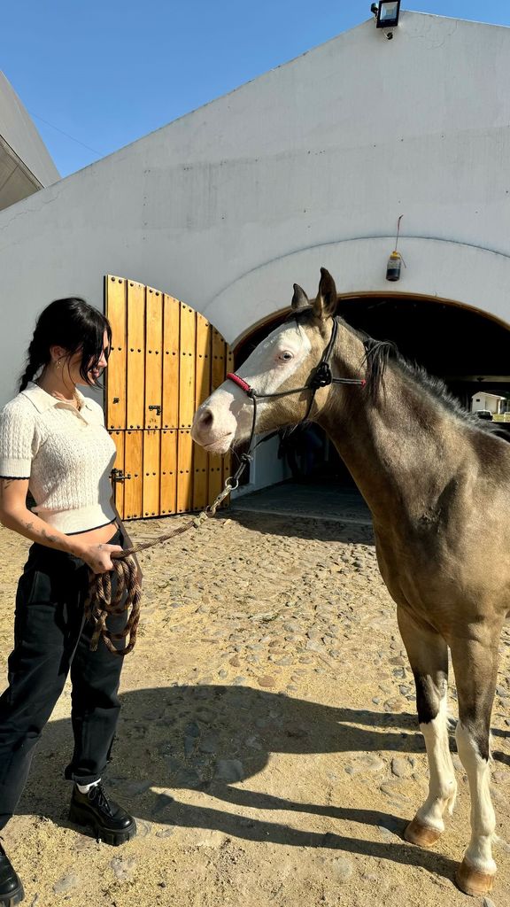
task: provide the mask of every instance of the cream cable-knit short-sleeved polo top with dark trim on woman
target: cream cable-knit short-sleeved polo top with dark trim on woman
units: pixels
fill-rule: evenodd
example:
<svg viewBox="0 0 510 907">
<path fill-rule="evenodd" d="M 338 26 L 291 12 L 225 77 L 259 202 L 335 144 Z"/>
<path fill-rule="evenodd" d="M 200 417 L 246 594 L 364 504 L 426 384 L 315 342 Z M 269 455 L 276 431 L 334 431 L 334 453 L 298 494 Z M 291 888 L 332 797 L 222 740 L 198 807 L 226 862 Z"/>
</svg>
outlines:
<svg viewBox="0 0 510 907">
<path fill-rule="evenodd" d="M 115 444 L 102 407 L 78 389 L 76 395 L 80 411 L 29 381 L 0 412 L 0 477 L 29 479 L 33 511 L 68 535 L 116 517 L 110 503 Z"/>
</svg>

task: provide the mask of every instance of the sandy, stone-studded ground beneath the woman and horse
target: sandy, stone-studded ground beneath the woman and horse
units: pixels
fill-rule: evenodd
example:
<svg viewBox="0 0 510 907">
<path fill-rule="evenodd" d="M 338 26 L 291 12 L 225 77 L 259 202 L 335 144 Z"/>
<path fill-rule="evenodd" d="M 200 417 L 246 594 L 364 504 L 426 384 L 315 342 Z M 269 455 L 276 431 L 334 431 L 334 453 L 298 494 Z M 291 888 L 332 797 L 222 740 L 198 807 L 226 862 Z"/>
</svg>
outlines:
<svg viewBox="0 0 510 907">
<path fill-rule="evenodd" d="M 132 522 L 135 539 L 182 519 Z M 28 542 L 0 528 L 1 658 Z M 466 776 L 432 851 L 401 837 L 427 787 L 412 676 L 368 526 L 223 513 L 142 556 L 143 635 L 123 669 L 108 789 L 139 834 L 112 848 L 67 820 L 66 688 L 5 848 L 48 907 L 412 907 L 483 903 L 453 875 Z M 510 631 L 493 713 L 499 873 L 510 902 Z M 455 690 L 451 693 L 456 714 Z M 452 740 L 452 747 L 454 747 Z"/>
</svg>

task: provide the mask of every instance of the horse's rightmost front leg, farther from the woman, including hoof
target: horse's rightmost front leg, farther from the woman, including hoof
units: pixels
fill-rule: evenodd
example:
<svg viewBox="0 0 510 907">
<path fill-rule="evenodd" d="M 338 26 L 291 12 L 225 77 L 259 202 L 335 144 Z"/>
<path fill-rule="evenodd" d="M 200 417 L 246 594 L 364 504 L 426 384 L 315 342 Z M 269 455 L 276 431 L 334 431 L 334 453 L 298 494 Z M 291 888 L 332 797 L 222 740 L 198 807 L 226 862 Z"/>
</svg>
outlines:
<svg viewBox="0 0 510 907">
<path fill-rule="evenodd" d="M 490 795 L 489 751 L 499 628 L 484 642 L 480 641 L 482 632 L 478 639 L 451 642 L 459 715 L 456 745 L 471 794 L 471 840 L 456 873 L 456 883 L 463 892 L 473 895 L 490 892 L 495 877 L 491 846 L 495 812 Z"/>
</svg>

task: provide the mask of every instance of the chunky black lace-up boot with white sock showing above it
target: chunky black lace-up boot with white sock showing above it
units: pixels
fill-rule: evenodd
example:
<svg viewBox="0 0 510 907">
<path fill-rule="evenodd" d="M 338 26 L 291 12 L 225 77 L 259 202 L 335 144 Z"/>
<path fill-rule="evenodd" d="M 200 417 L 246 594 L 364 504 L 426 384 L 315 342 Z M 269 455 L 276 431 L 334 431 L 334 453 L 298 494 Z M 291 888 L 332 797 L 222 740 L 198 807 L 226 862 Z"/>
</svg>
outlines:
<svg viewBox="0 0 510 907">
<path fill-rule="evenodd" d="M 101 784 L 93 785 L 88 794 L 81 794 L 74 785 L 69 818 L 78 825 L 90 825 L 97 840 L 104 844 L 125 844 L 136 834 L 132 815 L 109 800 Z"/>
</svg>

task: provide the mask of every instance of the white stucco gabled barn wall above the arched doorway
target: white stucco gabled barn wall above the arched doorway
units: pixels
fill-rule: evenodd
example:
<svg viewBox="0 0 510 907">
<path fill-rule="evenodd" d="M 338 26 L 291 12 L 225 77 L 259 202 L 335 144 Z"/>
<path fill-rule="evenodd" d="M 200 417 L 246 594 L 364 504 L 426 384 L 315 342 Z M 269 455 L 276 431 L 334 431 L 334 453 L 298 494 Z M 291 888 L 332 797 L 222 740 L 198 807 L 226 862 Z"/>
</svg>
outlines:
<svg viewBox="0 0 510 907">
<path fill-rule="evenodd" d="M 282 53 L 284 51 L 282 50 Z M 510 324 L 510 29 L 372 20 L 0 212 L 0 404 L 38 310 L 103 274 L 230 341 L 313 292 L 455 299 Z M 385 279 L 404 214 L 400 282 Z"/>
</svg>

